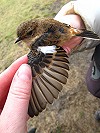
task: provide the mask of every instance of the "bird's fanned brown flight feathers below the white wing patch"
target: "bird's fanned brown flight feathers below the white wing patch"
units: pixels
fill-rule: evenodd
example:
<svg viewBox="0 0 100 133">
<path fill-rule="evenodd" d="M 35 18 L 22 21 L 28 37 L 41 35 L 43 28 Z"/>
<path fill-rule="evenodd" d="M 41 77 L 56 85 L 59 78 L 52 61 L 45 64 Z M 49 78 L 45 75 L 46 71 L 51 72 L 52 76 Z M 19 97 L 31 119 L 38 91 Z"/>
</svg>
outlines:
<svg viewBox="0 0 100 133">
<path fill-rule="evenodd" d="M 32 90 L 29 103 L 29 116 L 37 116 L 47 103 L 52 104 L 58 97 L 62 85 L 66 84 L 69 66 L 68 56 L 59 47 L 54 53 L 38 52 L 35 56 L 32 51 L 28 54 L 28 64 L 32 69 Z"/>
</svg>

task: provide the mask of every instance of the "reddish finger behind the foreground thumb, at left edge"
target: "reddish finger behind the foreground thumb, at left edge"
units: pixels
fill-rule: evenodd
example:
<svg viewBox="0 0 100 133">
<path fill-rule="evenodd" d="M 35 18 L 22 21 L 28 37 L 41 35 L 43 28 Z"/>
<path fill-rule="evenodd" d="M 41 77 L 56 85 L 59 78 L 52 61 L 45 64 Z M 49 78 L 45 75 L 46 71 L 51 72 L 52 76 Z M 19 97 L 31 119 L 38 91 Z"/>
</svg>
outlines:
<svg viewBox="0 0 100 133">
<path fill-rule="evenodd" d="M 0 74 L 0 108 L 3 108 L 11 81 L 17 69 L 24 63 L 27 63 L 27 55 L 17 59 L 10 67 Z"/>
</svg>

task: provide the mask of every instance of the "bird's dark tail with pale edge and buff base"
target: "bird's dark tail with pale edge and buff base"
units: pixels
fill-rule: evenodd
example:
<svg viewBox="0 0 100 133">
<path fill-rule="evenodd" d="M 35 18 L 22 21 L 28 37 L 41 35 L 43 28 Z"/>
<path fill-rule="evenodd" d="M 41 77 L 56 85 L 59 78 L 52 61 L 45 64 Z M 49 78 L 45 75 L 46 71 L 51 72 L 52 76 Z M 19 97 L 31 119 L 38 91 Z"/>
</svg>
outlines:
<svg viewBox="0 0 100 133">
<path fill-rule="evenodd" d="M 72 28 L 71 32 L 73 32 L 74 36 L 80 36 L 83 38 L 93 39 L 93 40 L 100 40 L 100 37 L 93 31 L 89 31 L 89 30 L 85 30 L 85 29 L 77 30 L 77 29 Z"/>
</svg>

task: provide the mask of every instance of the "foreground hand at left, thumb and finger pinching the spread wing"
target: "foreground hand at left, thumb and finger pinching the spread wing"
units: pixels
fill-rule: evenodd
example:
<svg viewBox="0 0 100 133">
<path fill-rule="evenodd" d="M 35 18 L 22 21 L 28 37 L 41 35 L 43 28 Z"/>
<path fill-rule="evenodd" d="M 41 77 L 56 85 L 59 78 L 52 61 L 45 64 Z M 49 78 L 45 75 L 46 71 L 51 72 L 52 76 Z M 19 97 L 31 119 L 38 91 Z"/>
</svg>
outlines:
<svg viewBox="0 0 100 133">
<path fill-rule="evenodd" d="M 32 83 L 27 61 L 26 55 L 19 58 L 0 75 L 0 133 L 27 132 Z"/>
</svg>

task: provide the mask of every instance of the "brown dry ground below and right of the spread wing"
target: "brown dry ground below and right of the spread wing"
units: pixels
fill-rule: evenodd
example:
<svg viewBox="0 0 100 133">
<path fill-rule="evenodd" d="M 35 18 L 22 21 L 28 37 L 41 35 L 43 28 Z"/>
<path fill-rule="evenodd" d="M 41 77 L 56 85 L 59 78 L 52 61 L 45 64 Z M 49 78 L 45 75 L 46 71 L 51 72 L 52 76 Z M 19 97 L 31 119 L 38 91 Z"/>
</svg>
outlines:
<svg viewBox="0 0 100 133">
<path fill-rule="evenodd" d="M 100 123 L 94 118 L 100 100 L 89 93 L 85 83 L 92 52 L 70 57 L 69 79 L 59 98 L 38 117 L 29 120 L 29 127 L 37 127 L 37 133 L 100 132 Z"/>
</svg>

